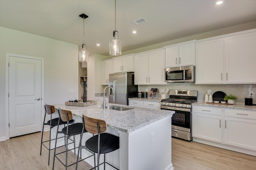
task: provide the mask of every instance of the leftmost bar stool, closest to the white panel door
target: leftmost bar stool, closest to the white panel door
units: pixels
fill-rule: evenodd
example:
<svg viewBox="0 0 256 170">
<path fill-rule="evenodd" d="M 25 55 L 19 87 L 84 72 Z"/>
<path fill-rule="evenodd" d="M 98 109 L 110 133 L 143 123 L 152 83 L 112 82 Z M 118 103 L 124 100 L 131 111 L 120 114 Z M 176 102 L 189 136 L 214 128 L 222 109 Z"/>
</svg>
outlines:
<svg viewBox="0 0 256 170">
<path fill-rule="evenodd" d="M 42 138 L 41 138 L 40 155 L 42 154 L 42 145 L 44 145 L 44 143 L 46 143 L 46 142 L 49 142 L 49 147 L 44 145 L 44 147 L 46 147 L 46 149 L 48 149 L 48 152 L 49 152 L 48 153 L 48 165 L 49 165 L 49 163 L 50 163 L 50 150 L 54 149 L 54 148 L 50 149 L 51 148 L 51 141 L 55 140 L 55 139 L 51 139 L 51 131 L 52 131 L 53 127 L 58 125 L 59 118 L 52 119 L 52 114 L 55 112 L 55 107 L 54 106 L 45 104 L 44 109 L 45 109 L 45 114 L 44 114 L 44 124 L 43 124 Z M 46 113 L 48 115 L 50 115 L 50 120 L 47 121 L 47 123 L 45 123 Z M 73 122 L 74 122 L 74 120 L 69 121 L 69 123 L 73 123 Z M 67 122 L 60 121 L 60 125 L 66 125 L 66 124 L 67 124 Z M 49 137 L 48 141 L 43 141 L 44 125 L 49 125 L 50 126 L 50 137 Z M 62 138 L 62 137 L 60 137 L 60 138 Z M 66 145 L 66 140 L 65 140 L 65 145 Z"/>
</svg>

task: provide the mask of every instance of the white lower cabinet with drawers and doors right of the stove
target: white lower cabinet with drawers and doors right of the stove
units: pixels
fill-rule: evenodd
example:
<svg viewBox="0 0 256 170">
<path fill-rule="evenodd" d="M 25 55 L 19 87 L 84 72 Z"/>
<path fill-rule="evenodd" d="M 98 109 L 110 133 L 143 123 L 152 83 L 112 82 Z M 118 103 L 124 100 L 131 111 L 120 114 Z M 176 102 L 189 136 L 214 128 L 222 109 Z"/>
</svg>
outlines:
<svg viewBox="0 0 256 170">
<path fill-rule="evenodd" d="M 256 156 L 256 111 L 192 106 L 192 137 L 193 141 Z"/>
</svg>

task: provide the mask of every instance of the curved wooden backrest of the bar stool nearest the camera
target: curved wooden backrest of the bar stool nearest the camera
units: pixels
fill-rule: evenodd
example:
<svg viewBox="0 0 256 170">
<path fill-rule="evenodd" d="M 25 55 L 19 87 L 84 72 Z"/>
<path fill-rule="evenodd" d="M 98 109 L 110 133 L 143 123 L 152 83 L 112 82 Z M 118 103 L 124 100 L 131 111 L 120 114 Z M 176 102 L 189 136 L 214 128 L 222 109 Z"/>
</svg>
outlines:
<svg viewBox="0 0 256 170">
<path fill-rule="evenodd" d="M 100 133 L 103 133 L 107 130 L 107 123 L 106 121 L 102 119 L 95 119 L 93 117 L 89 117 L 86 115 L 83 115 L 84 120 L 84 128 L 86 131 L 92 134 L 98 134 L 98 126 L 97 123 L 99 123 L 100 127 Z"/>
</svg>

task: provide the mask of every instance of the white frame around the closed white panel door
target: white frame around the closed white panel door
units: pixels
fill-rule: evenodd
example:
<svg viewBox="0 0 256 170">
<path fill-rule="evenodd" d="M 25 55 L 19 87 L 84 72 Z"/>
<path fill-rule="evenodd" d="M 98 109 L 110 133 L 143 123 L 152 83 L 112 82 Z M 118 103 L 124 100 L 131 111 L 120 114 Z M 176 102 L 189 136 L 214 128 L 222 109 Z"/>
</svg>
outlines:
<svg viewBox="0 0 256 170">
<path fill-rule="evenodd" d="M 41 60 L 41 131 L 42 131 L 42 120 L 44 119 L 44 58 L 41 57 L 31 57 L 26 55 L 18 55 L 18 54 L 11 54 L 6 53 L 6 60 L 5 60 L 5 119 L 6 119 L 6 140 L 10 139 L 10 129 L 9 129 L 9 57 L 21 57 L 26 59 L 36 59 Z"/>
</svg>

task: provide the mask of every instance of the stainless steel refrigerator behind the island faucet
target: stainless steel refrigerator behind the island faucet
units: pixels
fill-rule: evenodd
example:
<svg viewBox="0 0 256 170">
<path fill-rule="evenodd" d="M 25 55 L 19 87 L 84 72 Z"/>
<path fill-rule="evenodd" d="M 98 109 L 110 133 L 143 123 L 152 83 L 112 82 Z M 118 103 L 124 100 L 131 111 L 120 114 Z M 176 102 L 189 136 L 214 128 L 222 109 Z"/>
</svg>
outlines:
<svg viewBox="0 0 256 170">
<path fill-rule="evenodd" d="M 116 104 L 128 105 L 128 98 L 137 97 L 138 85 L 134 85 L 134 72 L 109 74 L 109 86 L 112 86 L 116 96 Z M 114 103 L 114 95 L 109 88 L 108 102 Z"/>
</svg>

